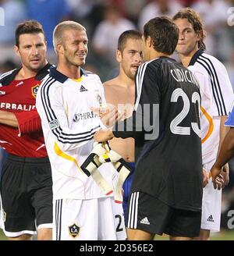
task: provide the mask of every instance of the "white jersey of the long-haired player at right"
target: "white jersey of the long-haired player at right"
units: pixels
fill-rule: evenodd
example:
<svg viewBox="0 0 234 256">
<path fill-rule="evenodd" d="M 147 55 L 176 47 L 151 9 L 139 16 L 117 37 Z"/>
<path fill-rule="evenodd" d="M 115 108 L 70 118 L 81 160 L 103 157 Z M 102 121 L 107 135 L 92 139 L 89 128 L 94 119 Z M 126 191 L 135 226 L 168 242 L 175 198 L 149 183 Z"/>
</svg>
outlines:
<svg viewBox="0 0 234 256">
<path fill-rule="evenodd" d="M 225 66 L 215 57 L 198 50 L 188 66 L 200 85 L 203 164 L 216 159 L 220 116 L 232 106 L 232 85 Z"/>
</svg>

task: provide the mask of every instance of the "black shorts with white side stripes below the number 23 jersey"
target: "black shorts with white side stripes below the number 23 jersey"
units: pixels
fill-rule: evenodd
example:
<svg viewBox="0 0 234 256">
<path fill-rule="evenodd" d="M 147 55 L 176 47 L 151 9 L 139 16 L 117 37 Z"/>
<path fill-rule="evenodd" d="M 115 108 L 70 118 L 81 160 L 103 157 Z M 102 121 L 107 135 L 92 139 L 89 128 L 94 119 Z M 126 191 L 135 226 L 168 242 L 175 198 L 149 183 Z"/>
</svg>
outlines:
<svg viewBox="0 0 234 256">
<path fill-rule="evenodd" d="M 201 212 L 172 208 L 142 192 L 129 197 L 127 227 L 170 236 L 199 236 Z"/>
</svg>

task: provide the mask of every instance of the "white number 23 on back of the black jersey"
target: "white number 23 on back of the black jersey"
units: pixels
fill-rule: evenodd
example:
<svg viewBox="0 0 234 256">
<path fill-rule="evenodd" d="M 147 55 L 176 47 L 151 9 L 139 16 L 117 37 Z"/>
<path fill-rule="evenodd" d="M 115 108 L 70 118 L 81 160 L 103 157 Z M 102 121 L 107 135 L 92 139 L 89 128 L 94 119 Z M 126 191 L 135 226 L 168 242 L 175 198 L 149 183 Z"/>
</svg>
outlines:
<svg viewBox="0 0 234 256">
<path fill-rule="evenodd" d="M 171 132 L 174 134 L 179 134 L 179 135 L 190 135 L 190 127 L 183 127 L 179 126 L 179 123 L 183 121 L 183 119 L 186 118 L 187 114 L 190 112 L 190 99 L 188 98 L 187 94 L 181 89 L 177 88 L 175 91 L 172 93 L 172 98 L 171 102 L 177 102 L 178 98 L 182 97 L 183 99 L 183 109 L 177 115 L 171 122 L 170 124 L 170 129 Z M 193 92 L 192 95 L 192 103 L 196 104 L 198 102 L 198 112 L 200 112 L 200 95 L 195 91 Z M 200 137 L 200 129 L 197 123 L 191 123 L 192 129 L 194 133 L 197 134 L 198 137 Z"/>
</svg>

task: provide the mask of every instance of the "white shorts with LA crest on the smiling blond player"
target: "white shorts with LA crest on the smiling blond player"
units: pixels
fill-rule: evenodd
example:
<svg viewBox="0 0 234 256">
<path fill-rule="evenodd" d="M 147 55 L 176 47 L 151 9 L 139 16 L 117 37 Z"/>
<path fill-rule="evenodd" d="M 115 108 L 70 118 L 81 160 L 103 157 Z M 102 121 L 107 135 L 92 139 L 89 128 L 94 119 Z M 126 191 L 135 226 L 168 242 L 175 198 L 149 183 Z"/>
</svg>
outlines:
<svg viewBox="0 0 234 256">
<path fill-rule="evenodd" d="M 54 202 L 53 240 L 126 240 L 122 204 L 113 197 Z"/>
</svg>

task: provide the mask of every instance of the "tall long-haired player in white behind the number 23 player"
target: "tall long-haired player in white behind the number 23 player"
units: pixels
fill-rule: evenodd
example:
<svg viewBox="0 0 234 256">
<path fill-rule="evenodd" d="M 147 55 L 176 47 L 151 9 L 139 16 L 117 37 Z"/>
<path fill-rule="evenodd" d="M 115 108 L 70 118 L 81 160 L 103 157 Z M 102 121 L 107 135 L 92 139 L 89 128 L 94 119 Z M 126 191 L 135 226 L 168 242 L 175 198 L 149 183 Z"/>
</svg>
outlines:
<svg viewBox="0 0 234 256">
<path fill-rule="evenodd" d="M 173 17 L 179 27 L 176 51 L 183 66 L 198 80 L 201 94 L 201 138 L 203 169 L 210 176 L 222 140 L 225 119 L 233 101 L 232 85 L 225 66 L 214 56 L 204 53 L 205 31 L 200 16 L 193 9 L 177 12 Z M 222 172 L 225 184 L 229 179 L 228 166 Z M 210 232 L 220 229 L 222 191 L 215 190 L 211 179 L 203 191 L 199 240 L 208 240 Z"/>
</svg>

